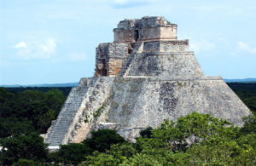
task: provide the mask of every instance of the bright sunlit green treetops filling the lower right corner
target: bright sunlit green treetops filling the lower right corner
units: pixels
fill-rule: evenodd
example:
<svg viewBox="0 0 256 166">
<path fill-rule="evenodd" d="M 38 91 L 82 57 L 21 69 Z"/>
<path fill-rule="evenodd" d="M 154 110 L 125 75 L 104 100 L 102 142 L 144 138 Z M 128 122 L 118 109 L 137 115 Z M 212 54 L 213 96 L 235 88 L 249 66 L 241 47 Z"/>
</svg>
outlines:
<svg viewBox="0 0 256 166">
<path fill-rule="evenodd" d="M 151 131 L 150 138 L 137 139 L 140 152 L 125 164 L 137 165 L 142 161 L 144 165 L 249 165 L 255 162 L 251 153 L 255 153 L 256 137 L 240 138 L 239 128 L 209 114 L 193 112 L 179 117 L 177 122 L 165 121 Z"/>
</svg>

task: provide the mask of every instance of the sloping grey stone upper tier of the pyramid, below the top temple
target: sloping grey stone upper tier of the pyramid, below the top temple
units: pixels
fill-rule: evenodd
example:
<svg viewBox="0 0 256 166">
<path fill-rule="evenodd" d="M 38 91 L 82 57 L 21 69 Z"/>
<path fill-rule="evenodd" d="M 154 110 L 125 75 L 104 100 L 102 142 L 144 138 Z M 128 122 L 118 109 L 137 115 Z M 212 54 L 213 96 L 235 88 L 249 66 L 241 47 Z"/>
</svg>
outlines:
<svg viewBox="0 0 256 166">
<path fill-rule="evenodd" d="M 152 41 L 143 43 L 127 67 L 125 76 L 171 77 L 203 76 L 201 66 L 189 51 L 188 40 Z"/>
</svg>

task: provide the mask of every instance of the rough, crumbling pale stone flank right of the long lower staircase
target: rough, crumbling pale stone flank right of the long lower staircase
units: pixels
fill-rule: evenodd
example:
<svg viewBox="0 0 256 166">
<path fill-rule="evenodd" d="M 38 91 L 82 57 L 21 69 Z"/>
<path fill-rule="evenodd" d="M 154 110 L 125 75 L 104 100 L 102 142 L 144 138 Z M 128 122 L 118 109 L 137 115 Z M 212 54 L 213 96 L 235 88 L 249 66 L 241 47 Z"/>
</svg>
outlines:
<svg viewBox="0 0 256 166">
<path fill-rule="evenodd" d="M 113 80 L 114 77 L 98 77 L 94 87 L 88 89 L 80 110 L 70 126 L 67 143 L 79 142 L 90 135 L 86 131 L 91 128 L 91 123 L 95 123 L 101 117 L 112 89 Z"/>
</svg>

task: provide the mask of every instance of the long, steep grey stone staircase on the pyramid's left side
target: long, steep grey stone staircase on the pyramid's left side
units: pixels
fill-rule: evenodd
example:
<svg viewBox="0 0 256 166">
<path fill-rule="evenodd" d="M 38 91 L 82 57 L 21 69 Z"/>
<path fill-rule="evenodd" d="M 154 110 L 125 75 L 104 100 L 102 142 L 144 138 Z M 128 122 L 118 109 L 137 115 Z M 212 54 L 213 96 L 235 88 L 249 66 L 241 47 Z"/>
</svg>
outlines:
<svg viewBox="0 0 256 166">
<path fill-rule="evenodd" d="M 96 83 L 96 78 L 81 79 L 79 86 L 74 87 L 67 97 L 61 112 L 57 119 L 52 123 L 49 132 L 46 135 L 45 142 L 49 146 L 59 146 L 65 139 L 67 131 L 73 123 L 73 118 L 76 112 L 79 110 L 79 106 L 84 100 L 84 96 L 87 94 L 87 90 L 93 87 Z"/>
</svg>

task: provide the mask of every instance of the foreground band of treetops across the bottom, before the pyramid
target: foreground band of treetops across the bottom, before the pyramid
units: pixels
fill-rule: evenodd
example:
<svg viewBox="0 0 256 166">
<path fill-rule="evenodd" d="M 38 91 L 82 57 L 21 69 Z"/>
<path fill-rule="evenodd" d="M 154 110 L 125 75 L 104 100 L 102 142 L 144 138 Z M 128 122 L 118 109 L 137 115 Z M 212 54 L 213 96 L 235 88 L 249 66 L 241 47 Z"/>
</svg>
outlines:
<svg viewBox="0 0 256 166">
<path fill-rule="evenodd" d="M 2 165 L 255 165 L 256 118 L 241 128 L 209 114 L 193 112 L 176 122 L 140 132 L 135 143 L 115 130 L 92 131 L 82 143 L 49 152 L 35 133 L 0 140 Z"/>
</svg>

